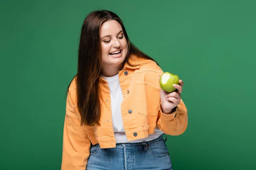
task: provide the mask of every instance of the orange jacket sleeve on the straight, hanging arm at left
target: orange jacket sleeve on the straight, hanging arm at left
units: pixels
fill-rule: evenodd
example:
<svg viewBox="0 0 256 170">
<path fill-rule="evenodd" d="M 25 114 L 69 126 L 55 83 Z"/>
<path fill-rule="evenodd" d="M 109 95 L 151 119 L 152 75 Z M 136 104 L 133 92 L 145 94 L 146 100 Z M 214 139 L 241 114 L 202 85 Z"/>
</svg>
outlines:
<svg viewBox="0 0 256 170">
<path fill-rule="evenodd" d="M 81 127 L 73 106 L 69 92 L 64 120 L 61 170 L 86 170 L 91 142 Z"/>
</svg>

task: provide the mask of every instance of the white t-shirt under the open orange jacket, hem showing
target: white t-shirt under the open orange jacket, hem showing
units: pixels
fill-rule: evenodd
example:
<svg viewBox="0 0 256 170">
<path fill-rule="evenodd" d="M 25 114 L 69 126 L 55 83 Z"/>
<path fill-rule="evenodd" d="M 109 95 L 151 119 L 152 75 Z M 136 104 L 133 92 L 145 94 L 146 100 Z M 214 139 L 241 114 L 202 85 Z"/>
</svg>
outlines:
<svg viewBox="0 0 256 170">
<path fill-rule="evenodd" d="M 119 83 L 119 74 L 116 74 L 113 77 L 104 77 L 102 75 L 100 75 L 100 77 L 104 78 L 108 82 L 108 87 L 110 89 L 112 122 L 116 143 L 136 143 L 151 141 L 163 133 L 158 127 L 156 127 L 154 134 L 148 135 L 147 138 L 128 141 L 122 122 L 121 103 L 123 100 L 123 94 Z"/>
</svg>

